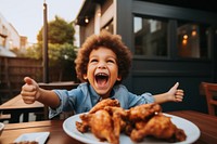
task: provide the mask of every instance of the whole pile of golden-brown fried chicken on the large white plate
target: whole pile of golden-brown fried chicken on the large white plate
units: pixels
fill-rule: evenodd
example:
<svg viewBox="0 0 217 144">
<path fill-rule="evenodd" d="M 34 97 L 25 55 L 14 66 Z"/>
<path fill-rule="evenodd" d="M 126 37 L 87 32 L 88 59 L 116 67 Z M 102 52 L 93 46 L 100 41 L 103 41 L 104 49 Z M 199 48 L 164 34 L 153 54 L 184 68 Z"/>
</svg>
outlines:
<svg viewBox="0 0 217 144">
<path fill-rule="evenodd" d="M 99 140 L 119 144 L 119 135 L 125 132 L 135 142 L 153 136 L 167 142 L 186 140 L 183 130 L 178 129 L 170 117 L 163 115 L 161 105 L 142 104 L 124 109 L 117 100 L 102 100 L 88 114 L 76 121 L 80 132 L 91 131 Z"/>
</svg>

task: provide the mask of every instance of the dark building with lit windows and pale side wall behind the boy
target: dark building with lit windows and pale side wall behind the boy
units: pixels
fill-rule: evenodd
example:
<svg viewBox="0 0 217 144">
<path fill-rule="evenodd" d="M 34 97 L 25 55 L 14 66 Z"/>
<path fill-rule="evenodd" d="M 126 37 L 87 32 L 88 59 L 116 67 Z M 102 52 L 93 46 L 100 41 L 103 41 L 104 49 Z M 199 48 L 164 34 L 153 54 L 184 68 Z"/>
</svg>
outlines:
<svg viewBox="0 0 217 144">
<path fill-rule="evenodd" d="M 88 0 L 77 25 L 80 43 L 101 29 L 122 36 L 133 54 L 124 84 L 137 94 L 166 92 L 176 81 L 182 103 L 163 109 L 207 113 L 202 81 L 217 82 L 217 8 L 212 1 Z"/>
</svg>

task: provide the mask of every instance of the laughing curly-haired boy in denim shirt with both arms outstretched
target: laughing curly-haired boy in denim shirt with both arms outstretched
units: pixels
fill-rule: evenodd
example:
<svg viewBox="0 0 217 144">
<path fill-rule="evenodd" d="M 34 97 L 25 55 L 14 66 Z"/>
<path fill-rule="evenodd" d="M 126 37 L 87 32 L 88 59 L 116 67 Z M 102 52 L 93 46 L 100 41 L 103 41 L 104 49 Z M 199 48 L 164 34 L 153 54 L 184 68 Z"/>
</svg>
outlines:
<svg viewBox="0 0 217 144">
<path fill-rule="evenodd" d="M 144 103 L 182 102 L 183 90 L 177 82 L 168 92 L 136 95 L 122 81 L 131 66 L 131 53 L 118 35 L 102 31 L 90 36 L 80 48 L 76 63 L 77 77 L 81 83 L 71 91 L 44 90 L 25 77 L 21 95 L 25 103 L 39 101 L 50 107 L 49 118 L 62 112 L 76 114 L 89 112 L 100 100 L 117 99 L 125 109 Z"/>
</svg>

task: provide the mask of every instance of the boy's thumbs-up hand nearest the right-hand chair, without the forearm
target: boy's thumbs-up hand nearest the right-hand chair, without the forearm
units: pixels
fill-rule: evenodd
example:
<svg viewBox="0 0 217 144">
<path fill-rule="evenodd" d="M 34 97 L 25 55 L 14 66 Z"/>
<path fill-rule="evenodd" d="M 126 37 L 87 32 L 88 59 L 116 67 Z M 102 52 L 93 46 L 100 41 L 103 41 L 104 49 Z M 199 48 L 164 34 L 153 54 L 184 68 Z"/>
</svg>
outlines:
<svg viewBox="0 0 217 144">
<path fill-rule="evenodd" d="M 176 84 L 167 92 L 168 99 L 171 102 L 182 102 L 183 100 L 183 90 L 178 89 L 179 82 L 176 82 Z"/>
</svg>

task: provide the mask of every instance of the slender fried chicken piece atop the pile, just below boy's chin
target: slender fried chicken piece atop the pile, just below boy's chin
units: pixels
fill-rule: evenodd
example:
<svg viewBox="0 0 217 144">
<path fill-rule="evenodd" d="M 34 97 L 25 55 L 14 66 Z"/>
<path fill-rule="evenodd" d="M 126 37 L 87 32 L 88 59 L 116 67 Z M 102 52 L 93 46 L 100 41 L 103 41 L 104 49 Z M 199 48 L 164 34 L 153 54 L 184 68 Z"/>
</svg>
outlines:
<svg viewBox="0 0 217 144">
<path fill-rule="evenodd" d="M 105 100 L 100 101 L 97 105 L 94 105 L 90 109 L 89 114 L 92 114 L 92 113 L 95 113 L 97 110 L 103 109 L 105 106 L 117 106 L 117 107 L 119 107 L 120 104 L 119 104 L 118 100 L 105 99 Z"/>
</svg>

